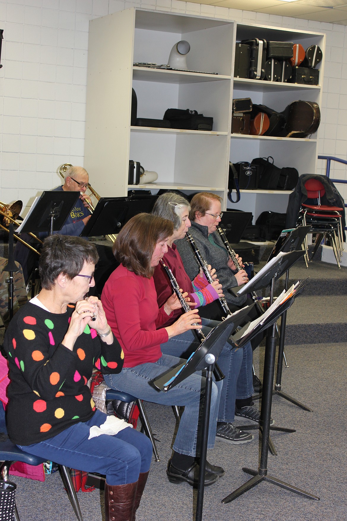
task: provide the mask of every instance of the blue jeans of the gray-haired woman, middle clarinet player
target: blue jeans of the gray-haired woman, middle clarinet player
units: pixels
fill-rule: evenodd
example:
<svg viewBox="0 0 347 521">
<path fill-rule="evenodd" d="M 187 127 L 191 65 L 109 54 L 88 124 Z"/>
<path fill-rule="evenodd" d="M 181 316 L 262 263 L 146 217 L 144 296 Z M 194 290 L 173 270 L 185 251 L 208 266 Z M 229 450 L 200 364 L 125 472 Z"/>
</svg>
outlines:
<svg viewBox="0 0 347 521">
<path fill-rule="evenodd" d="M 216 320 L 202 318 L 202 332 L 207 336 L 211 329 L 219 323 Z M 194 331 L 189 330 L 169 338 L 168 342 L 161 344 L 161 350 L 165 354 L 188 358 L 199 345 L 200 342 L 197 340 Z M 235 417 L 236 398 L 249 398 L 249 396 L 252 396 L 252 361 L 253 352 L 249 342 L 245 348 L 237 350 L 233 349 L 228 342 L 224 344 L 217 360 L 217 364 L 225 375 L 217 421 L 231 423 Z"/>
</svg>

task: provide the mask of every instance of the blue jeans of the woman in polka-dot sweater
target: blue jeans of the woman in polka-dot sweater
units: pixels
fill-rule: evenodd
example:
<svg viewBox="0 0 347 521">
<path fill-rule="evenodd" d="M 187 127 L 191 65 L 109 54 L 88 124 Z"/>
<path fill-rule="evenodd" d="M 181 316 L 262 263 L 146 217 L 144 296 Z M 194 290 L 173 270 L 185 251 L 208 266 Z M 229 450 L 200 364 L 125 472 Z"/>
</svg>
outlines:
<svg viewBox="0 0 347 521">
<path fill-rule="evenodd" d="M 152 444 L 141 432 L 126 427 L 114 436 L 102 434 L 88 439 L 89 429 L 100 427 L 107 415 L 96 411 L 94 416 L 59 432 L 56 436 L 20 449 L 46 460 L 77 470 L 106 474 L 109 485 L 125 485 L 147 472 L 152 459 Z"/>
</svg>

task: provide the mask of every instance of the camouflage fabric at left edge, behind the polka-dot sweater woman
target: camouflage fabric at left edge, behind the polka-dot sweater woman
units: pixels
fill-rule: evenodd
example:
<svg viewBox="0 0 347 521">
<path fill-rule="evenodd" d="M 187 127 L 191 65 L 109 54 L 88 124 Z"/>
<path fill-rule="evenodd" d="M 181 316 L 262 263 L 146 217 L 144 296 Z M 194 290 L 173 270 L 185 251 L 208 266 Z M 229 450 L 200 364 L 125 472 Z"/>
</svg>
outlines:
<svg viewBox="0 0 347 521">
<path fill-rule="evenodd" d="M 0 257 L 0 316 L 3 319 L 5 328 L 7 328 L 9 324 L 8 284 L 6 282 L 6 280 L 8 280 L 9 273 L 8 271 L 4 271 L 7 263 L 8 259 Z M 19 270 L 14 273 L 14 314 L 21 306 L 28 302 L 22 267 L 18 262 L 16 262 L 16 266 L 19 267 Z"/>
</svg>

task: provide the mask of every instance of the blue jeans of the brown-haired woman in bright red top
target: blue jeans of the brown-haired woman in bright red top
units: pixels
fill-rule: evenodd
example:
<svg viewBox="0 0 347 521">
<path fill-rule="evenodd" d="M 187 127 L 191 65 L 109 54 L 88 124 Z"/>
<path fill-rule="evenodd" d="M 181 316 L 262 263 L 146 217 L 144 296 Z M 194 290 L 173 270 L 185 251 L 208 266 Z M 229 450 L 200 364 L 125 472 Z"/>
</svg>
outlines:
<svg viewBox="0 0 347 521">
<path fill-rule="evenodd" d="M 179 422 L 173 450 L 188 456 L 199 455 L 198 423 L 201 401 L 204 396 L 205 378 L 194 373 L 168 392 L 158 391 L 152 380 L 164 374 L 169 368 L 185 362 L 181 358 L 163 354 L 158 362 L 123 367 L 117 375 L 104 375 L 106 384 L 118 391 L 126 391 L 136 398 L 163 405 L 184 405 L 184 413 Z M 217 411 L 222 382 L 212 382 L 211 411 L 208 448 L 212 449 L 216 434 Z M 201 424 L 201 422 L 200 422 Z"/>
</svg>

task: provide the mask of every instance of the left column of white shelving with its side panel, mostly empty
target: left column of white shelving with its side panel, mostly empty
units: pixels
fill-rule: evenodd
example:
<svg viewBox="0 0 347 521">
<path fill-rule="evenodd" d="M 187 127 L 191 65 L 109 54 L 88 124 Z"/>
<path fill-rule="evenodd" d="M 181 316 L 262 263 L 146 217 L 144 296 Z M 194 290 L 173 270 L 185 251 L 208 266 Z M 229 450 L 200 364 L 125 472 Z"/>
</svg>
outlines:
<svg viewBox="0 0 347 521">
<path fill-rule="evenodd" d="M 201 73 L 133 66 L 167 63 L 180 40 L 190 43 L 189 69 Z M 234 41 L 233 22 L 137 8 L 90 22 L 85 167 L 100 194 L 177 188 L 226 200 Z M 137 117 L 162 119 L 168 108 L 189 108 L 212 116 L 213 131 L 131 126 L 132 88 Z M 128 185 L 129 159 L 158 172 L 158 181 Z"/>
</svg>

